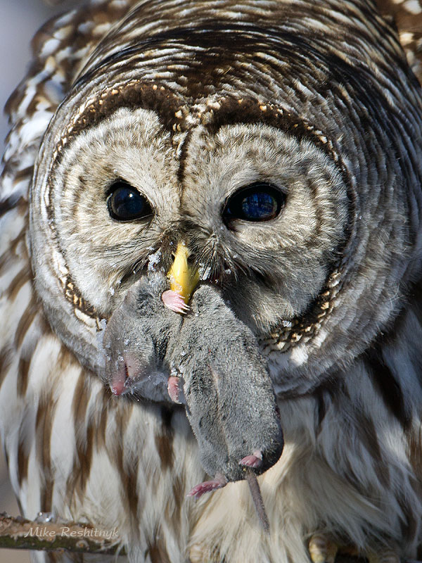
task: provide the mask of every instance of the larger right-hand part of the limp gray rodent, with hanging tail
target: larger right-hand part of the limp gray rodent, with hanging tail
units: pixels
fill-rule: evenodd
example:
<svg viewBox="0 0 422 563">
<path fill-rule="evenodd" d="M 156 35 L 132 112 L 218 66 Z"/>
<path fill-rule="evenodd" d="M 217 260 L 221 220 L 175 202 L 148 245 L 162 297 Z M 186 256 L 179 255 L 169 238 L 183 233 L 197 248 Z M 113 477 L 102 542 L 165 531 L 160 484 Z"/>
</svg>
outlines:
<svg viewBox="0 0 422 563">
<path fill-rule="evenodd" d="M 217 287 L 202 285 L 193 293 L 191 312 L 170 341 L 165 361 L 183 380 L 186 415 L 201 464 L 214 476 L 190 494 L 198 498 L 229 481 L 248 479 L 267 529 L 255 474 L 267 471 L 281 456 L 279 412 L 257 339 Z"/>
</svg>

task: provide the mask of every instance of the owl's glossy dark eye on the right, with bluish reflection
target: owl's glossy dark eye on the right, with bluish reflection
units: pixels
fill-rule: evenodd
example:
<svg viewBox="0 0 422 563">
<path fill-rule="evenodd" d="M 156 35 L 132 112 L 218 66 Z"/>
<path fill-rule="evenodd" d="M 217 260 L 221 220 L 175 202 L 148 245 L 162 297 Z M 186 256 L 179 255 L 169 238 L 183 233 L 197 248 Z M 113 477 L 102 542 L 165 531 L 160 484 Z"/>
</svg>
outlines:
<svg viewBox="0 0 422 563">
<path fill-rule="evenodd" d="M 284 199 L 284 194 L 276 186 L 257 182 L 231 196 L 223 210 L 223 218 L 226 221 L 269 221 L 279 215 Z"/>
</svg>

